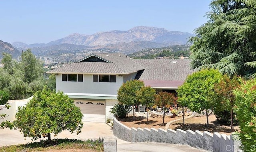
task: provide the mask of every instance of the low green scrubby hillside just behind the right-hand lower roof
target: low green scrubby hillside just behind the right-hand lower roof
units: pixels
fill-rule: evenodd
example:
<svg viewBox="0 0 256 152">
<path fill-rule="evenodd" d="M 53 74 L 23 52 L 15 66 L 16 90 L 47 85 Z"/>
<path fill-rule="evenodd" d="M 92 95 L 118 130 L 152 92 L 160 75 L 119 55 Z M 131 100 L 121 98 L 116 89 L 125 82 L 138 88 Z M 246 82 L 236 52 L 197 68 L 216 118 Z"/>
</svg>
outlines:
<svg viewBox="0 0 256 152">
<path fill-rule="evenodd" d="M 178 58 L 181 55 L 183 57 L 189 57 L 191 45 L 173 45 L 162 48 L 147 48 L 142 49 L 136 53 L 128 55 L 132 58 L 156 58 L 156 57 L 168 57 Z"/>
</svg>

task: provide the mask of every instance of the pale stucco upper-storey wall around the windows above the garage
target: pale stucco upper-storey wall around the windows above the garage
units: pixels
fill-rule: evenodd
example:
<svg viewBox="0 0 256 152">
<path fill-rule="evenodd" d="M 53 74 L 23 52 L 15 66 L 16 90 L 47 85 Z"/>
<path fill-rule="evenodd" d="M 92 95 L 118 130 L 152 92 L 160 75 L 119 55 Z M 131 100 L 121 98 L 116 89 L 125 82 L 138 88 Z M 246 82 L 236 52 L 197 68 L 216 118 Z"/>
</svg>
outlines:
<svg viewBox="0 0 256 152">
<path fill-rule="evenodd" d="M 123 83 L 123 78 L 133 78 L 133 74 L 127 76 L 116 75 L 116 82 L 93 82 L 92 74 L 84 74 L 83 82 L 62 81 L 62 74 L 56 75 L 56 91 L 64 93 L 85 93 L 85 94 L 111 94 L 116 95 L 117 90 Z"/>
</svg>

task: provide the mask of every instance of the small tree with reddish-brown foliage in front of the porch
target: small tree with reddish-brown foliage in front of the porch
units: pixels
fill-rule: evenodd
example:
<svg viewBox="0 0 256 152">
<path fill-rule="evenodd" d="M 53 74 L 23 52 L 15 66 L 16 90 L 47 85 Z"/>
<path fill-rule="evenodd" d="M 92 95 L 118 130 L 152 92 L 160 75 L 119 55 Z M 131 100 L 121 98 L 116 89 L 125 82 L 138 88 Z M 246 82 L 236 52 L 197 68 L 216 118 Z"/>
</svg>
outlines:
<svg viewBox="0 0 256 152">
<path fill-rule="evenodd" d="M 176 102 L 176 97 L 174 94 L 168 92 L 159 92 L 156 94 L 155 104 L 163 109 L 163 125 L 164 116 L 168 105 L 172 105 Z"/>
</svg>

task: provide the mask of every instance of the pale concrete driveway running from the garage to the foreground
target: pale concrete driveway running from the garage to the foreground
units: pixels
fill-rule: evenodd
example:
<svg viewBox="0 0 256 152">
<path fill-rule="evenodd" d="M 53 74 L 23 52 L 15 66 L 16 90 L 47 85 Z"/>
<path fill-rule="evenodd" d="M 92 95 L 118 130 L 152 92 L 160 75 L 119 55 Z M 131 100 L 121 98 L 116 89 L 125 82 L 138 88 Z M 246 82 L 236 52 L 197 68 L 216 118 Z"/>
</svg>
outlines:
<svg viewBox="0 0 256 152">
<path fill-rule="evenodd" d="M 94 139 L 104 136 L 114 136 L 112 128 L 105 123 L 89 123 L 84 122 L 84 127 L 82 128 L 82 133 L 76 135 L 76 133 L 71 134 L 68 131 L 62 131 L 54 138 L 69 138 L 69 139 Z M 42 138 L 44 139 L 44 138 Z M 46 139 L 45 139 L 46 140 Z M 39 141 L 39 140 L 38 140 Z M 23 134 L 18 130 L 10 129 L 0 129 L 0 147 L 9 146 L 14 144 L 26 144 L 29 142 L 34 142 L 31 138 L 26 137 L 24 140 Z M 0 148 L 1 149 L 1 148 Z M 118 152 L 205 152 L 204 150 L 198 150 L 187 145 L 178 144 L 164 144 L 155 142 L 126 142 L 121 139 L 117 139 L 117 150 Z"/>
</svg>

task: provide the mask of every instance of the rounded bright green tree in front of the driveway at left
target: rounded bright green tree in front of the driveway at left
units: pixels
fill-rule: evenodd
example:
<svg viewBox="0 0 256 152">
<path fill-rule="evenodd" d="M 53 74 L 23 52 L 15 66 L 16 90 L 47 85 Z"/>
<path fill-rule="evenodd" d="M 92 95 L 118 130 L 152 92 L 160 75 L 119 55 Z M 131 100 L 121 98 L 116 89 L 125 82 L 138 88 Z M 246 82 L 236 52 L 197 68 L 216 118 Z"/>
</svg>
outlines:
<svg viewBox="0 0 256 152">
<path fill-rule="evenodd" d="M 14 121 L 14 128 L 19 129 L 24 137 L 32 137 L 36 140 L 48 137 L 50 133 L 56 136 L 62 130 L 69 130 L 71 133 L 81 133 L 83 127 L 82 113 L 63 92 L 47 90 L 34 94 L 26 107 L 19 107 Z"/>
</svg>

